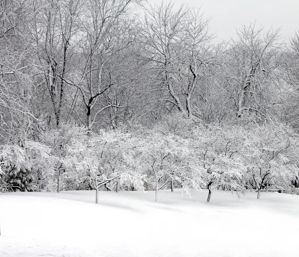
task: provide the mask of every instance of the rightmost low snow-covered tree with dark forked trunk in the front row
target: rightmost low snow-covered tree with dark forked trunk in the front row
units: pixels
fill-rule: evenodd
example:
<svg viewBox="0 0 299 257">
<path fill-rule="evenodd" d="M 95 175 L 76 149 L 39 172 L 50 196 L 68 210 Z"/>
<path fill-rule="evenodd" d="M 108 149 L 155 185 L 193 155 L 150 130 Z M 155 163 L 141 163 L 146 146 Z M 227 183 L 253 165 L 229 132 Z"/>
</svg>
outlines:
<svg viewBox="0 0 299 257">
<path fill-rule="evenodd" d="M 265 186 L 289 188 L 298 177 L 298 138 L 282 125 L 256 127 L 250 131 L 247 179 L 258 190 Z"/>
</svg>

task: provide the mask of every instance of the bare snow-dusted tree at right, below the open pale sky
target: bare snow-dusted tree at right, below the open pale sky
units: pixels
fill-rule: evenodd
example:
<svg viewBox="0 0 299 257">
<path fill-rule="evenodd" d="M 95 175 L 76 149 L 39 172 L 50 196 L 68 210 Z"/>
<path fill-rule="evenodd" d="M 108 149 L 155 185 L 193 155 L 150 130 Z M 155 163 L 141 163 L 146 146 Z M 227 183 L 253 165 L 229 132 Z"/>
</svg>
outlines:
<svg viewBox="0 0 299 257">
<path fill-rule="evenodd" d="M 234 102 L 237 117 L 245 112 L 263 120 L 272 117 L 278 85 L 278 33 L 279 30 L 264 33 L 253 23 L 238 30 L 238 40 L 231 40 L 222 86 Z"/>
</svg>

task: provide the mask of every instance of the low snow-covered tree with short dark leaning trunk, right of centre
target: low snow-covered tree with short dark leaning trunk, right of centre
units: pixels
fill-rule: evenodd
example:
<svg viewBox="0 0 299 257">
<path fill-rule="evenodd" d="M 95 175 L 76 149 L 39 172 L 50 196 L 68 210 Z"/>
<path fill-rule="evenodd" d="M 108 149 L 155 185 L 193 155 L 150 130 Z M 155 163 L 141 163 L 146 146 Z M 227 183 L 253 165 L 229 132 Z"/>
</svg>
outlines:
<svg viewBox="0 0 299 257">
<path fill-rule="evenodd" d="M 193 189 L 207 188 L 207 202 L 212 190 L 223 188 L 244 191 L 242 177 L 245 171 L 242 151 L 246 137 L 234 126 L 197 129 L 193 139 L 191 167 Z"/>
</svg>

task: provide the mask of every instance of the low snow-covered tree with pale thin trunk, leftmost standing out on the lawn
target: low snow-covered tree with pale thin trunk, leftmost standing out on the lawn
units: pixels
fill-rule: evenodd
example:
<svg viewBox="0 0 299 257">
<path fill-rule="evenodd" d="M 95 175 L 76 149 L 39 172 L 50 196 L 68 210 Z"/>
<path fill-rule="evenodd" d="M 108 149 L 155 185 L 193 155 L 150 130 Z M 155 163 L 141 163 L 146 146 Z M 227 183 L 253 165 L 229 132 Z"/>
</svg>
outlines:
<svg viewBox="0 0 299 257">
<path fill-rule="evenodd" d="M 111 190 L 109 183 L 118 179 L 120 186 L 133 186 L 143 190 L 142 175 L 133 160 L 134 145 L 131 135 L 121 130 L 102 130 L 99 134 L 86 135 L 74 143 L 69 158 L 84 181 L 96 190 L 96 203 L 101 186 Z"/>
</svg>

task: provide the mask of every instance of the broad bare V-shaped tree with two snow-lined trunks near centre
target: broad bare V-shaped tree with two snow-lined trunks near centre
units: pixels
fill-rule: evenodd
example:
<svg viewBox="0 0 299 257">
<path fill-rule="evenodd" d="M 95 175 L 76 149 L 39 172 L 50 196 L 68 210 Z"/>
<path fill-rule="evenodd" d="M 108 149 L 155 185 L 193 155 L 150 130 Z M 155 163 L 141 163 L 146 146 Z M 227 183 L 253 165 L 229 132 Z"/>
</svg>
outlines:
<svg viewBox="0 0 299 257">
<path fill-rule="evenodd" d="M 148 7 L 148 6 L 147 6 Z M 209 20 L 200 9 L 177 10 L 171 3 L 149 6 L 142 32 L 143 57 L 155 72 L 156 101 L 165 102 L 165 108 L 176 108 L 193 118 L 192 97 L 200 95 L 199 84 L 207 77 L 215 62 L 208 45 Z M 196 98 L 197 100 L 197 98 Z"/>
</svg>

